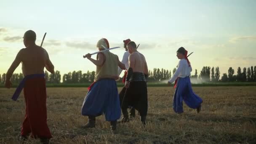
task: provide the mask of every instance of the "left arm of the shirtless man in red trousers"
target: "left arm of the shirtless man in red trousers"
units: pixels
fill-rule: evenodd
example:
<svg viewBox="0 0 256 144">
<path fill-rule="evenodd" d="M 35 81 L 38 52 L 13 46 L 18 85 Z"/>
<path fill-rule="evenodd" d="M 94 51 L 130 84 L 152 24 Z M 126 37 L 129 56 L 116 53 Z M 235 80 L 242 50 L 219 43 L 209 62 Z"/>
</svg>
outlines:
<svg viewBox="0 0 256 144">
<path fill-rule="evenodd" d="M 21 57 L 22 57 L 22 51 L 21 49 L 19 53 L 17 54 L 16 58 L 14 59 L 13 63 L 11 64 L 11 67 L 8 69 L 6 73 L 6 79 L 5 79 L 5 87 L 6 88 L 11 88 L 11 76 L 13 75 L 14 70 L 19 66 L 21 63 Z"/>
</svg>

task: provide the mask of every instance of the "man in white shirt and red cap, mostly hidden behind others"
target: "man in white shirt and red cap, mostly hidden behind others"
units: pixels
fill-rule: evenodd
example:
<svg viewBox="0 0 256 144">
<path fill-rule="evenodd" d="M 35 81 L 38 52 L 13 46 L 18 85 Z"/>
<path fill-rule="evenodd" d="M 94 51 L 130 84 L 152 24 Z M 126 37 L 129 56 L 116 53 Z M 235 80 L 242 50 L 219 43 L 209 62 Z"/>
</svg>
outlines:
<svg viewBox="0 0 256 144">
<path fill-rule="evenodd" d="M 123 54 L 123 59 L 122 59 L 122 63 L 125 64 L 125 74 L 123 76 L 123 80 L 122 82 L 125 83 L 125 78 L 126 78 L 126 75 L 127 75 L 127 70 L 129 68 L 129 56 L 130 56 L 130 53 L 128 52 L 128 49 L 127 49 L 127 44 L 130 42 L 131 40 L 130 39 L 127 39 L 127 40 L 123 40 L 123 47 L 125 48 L 125 53 Z M 123 70 L 120 69 L 120 67 L 118 67 L 118 75 L 121 74 Z M 126 88 L 125 86 L 123 87 L 123 89 L 120 91 L 119 93 L 119 97 L 120 99 L 123 99 L 123 96 L 125 95 L 125 91 L 126 91 Z M 122 104 L 122 101 L 121 101 L 121 104 Z M 135 117 L 135 109 L 133 107 L 131 107 L 130 109 L 130 117 Z M 125 122 L 128 122 L 128 119 L 126 118 L 123 118 L 121 120 L 122 123 L 125 123 Z"/>
</svg>

